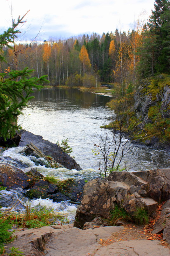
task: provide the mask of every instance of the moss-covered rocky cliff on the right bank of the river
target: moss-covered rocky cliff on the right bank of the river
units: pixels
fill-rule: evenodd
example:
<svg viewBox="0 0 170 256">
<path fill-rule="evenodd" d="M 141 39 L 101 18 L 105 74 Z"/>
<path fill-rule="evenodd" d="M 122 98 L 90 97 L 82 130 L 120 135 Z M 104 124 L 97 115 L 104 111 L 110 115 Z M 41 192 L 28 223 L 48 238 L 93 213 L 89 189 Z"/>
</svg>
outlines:
<svg viewBox="0 0 170 256">
<path fill-rule="evenodd" d="M 170 148 L 170 76 L 158 75 L 140 81 L 128 114 L 131 139 L 156 148 Z"/>
</svg>

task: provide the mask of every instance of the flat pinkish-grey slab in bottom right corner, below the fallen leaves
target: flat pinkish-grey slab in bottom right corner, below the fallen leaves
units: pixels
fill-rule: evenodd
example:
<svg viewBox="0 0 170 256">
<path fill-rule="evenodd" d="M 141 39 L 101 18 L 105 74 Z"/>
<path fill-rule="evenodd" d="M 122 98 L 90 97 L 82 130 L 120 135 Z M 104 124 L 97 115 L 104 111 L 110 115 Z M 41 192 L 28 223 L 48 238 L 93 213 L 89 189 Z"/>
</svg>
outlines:
<svg viewBox="0 0 170 256">
<path fill-rule="evenodd" d="M 170 256 L 168 248 L 159 241 L 130 240 L 101 247 L 94 256 Z M 71 254 L 69 255 L 71 256 Z"/>
</svg>

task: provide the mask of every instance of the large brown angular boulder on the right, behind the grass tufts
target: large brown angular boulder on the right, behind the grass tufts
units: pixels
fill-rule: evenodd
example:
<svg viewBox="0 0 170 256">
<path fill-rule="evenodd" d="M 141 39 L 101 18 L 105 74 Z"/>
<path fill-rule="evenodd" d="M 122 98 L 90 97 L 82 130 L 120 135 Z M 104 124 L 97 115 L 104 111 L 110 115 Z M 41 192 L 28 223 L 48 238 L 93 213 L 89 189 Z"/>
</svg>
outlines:
<svg viewBox="0 0 170 256">
<path fill-rule="evenodd" d="M 112 172 L 108 179 L 94 179 L 84 186 L 74 226 L 83 228 L 95 217 L 108 218 L 114 205 L 123 207 L 131 216 L 137 208 L 151 215 L 158 203 L 170 198 L 170 169 L 140 172 Z"/>
</svg>

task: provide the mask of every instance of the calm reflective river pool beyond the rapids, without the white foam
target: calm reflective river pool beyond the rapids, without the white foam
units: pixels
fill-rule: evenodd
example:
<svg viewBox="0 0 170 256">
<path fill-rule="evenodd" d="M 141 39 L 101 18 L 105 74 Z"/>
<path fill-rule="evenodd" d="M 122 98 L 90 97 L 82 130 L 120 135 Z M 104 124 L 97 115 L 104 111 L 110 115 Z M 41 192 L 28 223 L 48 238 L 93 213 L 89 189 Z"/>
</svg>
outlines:
<svg viewBox="0 0 170 256">
<path fill-rule="evenodd" d="M 92 150 L 99 144 L 100 126 L 114 118 L 106 103 L 110 97 L 78 89 L 42 89 L 34 92 L 19 122 L 26 130 L 53 143 L 68 138 L 72 156 L 81 168 L 98 170 L 99 159 Z M 131 170 L 166 168 L 169 153 L 142 145 L 132 145 L 122 160 Z"/>
</svg>

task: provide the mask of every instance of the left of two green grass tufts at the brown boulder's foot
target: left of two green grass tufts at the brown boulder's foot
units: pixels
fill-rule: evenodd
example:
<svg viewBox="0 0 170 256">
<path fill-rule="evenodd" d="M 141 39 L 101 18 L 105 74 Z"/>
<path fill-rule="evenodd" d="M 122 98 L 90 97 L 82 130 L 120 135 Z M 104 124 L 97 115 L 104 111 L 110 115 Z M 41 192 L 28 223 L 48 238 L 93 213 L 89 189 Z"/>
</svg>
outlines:
<svg viewBox="0 0 170 256">
<path fill-rule="evenodd" d="M 111 212 L 110 224 L 115 225 L 115 223 L 119 220 L 123 221 L 132 221 L 132 217 L 129 213 L 125 211 L 122 207 L 115 205 L 114 209 Z"/>
</svg>

